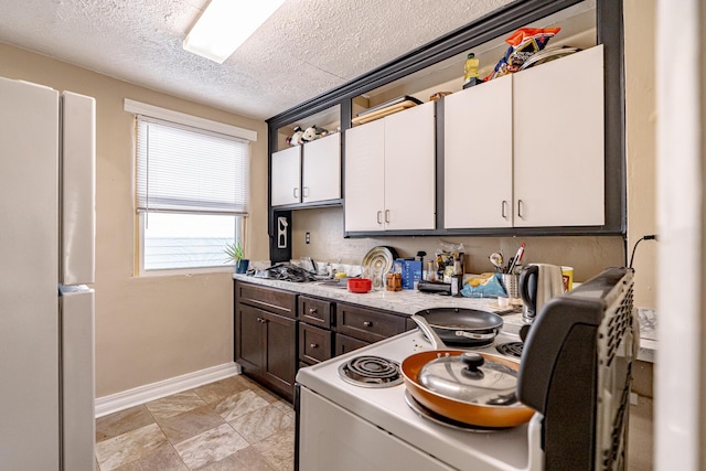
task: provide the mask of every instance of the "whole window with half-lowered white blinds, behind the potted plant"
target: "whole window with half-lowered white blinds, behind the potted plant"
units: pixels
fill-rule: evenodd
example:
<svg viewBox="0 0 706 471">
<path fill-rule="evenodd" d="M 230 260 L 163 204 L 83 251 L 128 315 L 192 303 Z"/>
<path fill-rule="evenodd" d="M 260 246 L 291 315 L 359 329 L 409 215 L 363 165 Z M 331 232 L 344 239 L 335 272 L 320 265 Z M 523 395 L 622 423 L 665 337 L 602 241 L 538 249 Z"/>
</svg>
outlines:
<svg viewBox="0 0 706 471">
<path fill-rule="evenodd" d="M 249 152 L 245 139 L 137 116 L 140 272 L 227 263 L 226 244 L 243 239 Z"/>
</svg>

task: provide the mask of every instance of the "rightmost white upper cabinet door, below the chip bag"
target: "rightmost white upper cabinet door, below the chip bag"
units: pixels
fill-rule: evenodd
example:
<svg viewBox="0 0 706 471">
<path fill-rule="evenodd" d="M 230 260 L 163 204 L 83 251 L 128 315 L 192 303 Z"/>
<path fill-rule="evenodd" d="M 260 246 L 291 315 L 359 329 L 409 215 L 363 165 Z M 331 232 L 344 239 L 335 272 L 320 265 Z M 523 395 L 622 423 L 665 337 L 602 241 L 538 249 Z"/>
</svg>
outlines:
<svg viewBox="0 0 706 471">
<path fill-rule="evenodd" d="M 605 224 L 603 49 L 513 75 L 514 225 Z"/>
</svg>

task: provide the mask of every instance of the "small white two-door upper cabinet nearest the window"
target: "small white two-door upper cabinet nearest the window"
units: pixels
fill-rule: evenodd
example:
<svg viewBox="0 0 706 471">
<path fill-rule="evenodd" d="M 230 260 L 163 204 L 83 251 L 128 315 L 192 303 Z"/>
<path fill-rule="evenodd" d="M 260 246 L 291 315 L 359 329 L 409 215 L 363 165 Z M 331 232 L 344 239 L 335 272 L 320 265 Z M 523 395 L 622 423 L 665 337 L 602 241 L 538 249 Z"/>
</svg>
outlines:
<svg viewBox="0 0 706 471">
<path fill-rule="evenodd" d="M 272 206 L 341 197 L 340 133 L 274 152 L 271 159 Z"/>
</svg>

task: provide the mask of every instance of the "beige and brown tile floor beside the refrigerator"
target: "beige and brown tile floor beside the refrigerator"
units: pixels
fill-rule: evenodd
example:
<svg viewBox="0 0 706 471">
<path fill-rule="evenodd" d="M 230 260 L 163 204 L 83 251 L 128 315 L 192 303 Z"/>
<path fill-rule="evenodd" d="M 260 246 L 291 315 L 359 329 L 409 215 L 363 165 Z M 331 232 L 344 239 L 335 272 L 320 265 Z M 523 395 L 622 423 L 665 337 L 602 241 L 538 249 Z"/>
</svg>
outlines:
<svg viewBox="0 0 706 471">
<path fill-rule="evenodd" d="M 96 470 L 292 470 L 291 405 L 238 375 L 96 420 Z"/>
</svg>

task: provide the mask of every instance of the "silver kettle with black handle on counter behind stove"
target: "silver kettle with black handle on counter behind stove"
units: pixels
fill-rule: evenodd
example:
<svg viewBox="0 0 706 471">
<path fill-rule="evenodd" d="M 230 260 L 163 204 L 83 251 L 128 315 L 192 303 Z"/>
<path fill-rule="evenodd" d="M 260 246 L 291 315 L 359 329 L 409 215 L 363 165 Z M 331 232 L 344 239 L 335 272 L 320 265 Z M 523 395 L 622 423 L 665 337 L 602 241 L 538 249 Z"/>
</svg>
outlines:
<svg viewBox="0 0 706 471">
<path fill-rule="evenodd" d="M 548 264 L 530 264 L 520 272 L 520 297 L 524 302 L 522 318 L 533 322 L 546 302 L 564 295 L 561 267 Z"/>
</svg>

